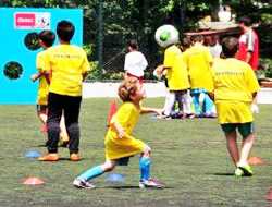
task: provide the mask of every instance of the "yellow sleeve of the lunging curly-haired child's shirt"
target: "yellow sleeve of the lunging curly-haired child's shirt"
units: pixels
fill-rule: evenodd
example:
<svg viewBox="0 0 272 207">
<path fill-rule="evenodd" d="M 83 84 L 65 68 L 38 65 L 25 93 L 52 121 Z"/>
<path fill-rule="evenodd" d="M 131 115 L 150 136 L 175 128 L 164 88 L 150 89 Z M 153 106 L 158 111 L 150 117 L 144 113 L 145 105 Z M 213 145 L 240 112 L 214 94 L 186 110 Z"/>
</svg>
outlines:
<svg viewBox="0 0 272 207">
<path fill-rule="evenodd" d="M 131 113 L 131 105 L 123 104 L 112 117 L 110 124 L 118 122 L 121 126 L 124 126 L 128 122 Z"/>
</svg>

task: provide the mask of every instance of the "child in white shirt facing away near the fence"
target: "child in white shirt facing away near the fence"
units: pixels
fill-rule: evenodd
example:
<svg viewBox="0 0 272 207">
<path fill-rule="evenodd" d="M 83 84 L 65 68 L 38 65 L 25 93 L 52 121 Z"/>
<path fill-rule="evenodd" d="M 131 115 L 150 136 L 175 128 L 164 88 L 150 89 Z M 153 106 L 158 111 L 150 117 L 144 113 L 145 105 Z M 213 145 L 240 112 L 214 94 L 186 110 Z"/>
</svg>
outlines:
<svg viewBox="0 0 272 207">
<path fill-rule="evenodd" d="M 144 82 L 144 71 L 148 63 L 145 56 L 138 51 L 138 44 L 136 40 L 129 40 L 127 42 L 128 53 L 125 56 L 125 78 L 137 77 L 140 83 Z"/>
</svg>

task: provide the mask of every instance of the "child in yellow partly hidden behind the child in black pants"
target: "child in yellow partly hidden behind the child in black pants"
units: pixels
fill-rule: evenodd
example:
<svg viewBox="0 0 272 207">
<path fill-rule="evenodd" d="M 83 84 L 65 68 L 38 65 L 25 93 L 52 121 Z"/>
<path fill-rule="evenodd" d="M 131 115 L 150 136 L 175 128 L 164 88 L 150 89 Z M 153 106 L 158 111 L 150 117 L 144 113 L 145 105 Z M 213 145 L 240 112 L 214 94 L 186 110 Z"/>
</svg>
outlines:
<svg viewBox="0 0 272 207">
<path fill-rule="evenodd" d="M 42 31 L 39 34 L 39 45 L 44 48 L 44 51 L 39 52 L 36 58 L 36 65 L 38 69 L 38 73 L 33 74 L 30 76 L 30 80 L 33 82 L 39 80 L 37 113 L 41 123 L 44 124 L 44 129 L 47 129 L 46 123 L 47 123 L 47 118 L 48 118 L 47 117 L 48 89 L 49 89 L 49 84 L 50 84 L 50 80 L 46 76 L 45 64 L 44 64 L 45 59 L 46 59 L 45 50 L 53 45 L 54 39 L 55 39 L 55 35 L 51 31 Z M 67 136 L 63 117 L 60 123 L 60 136 L 63 143 L 69 142 L 69 136 Z"/>
</svg>

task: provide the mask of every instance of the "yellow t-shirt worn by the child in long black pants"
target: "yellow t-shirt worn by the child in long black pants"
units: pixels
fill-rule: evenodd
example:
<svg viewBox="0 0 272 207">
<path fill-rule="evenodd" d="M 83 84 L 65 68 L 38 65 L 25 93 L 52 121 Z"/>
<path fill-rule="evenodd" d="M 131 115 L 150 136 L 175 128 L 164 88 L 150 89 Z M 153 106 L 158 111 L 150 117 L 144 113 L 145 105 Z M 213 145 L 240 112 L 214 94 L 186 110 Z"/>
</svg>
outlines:
<svg viewBox="0 0 272 207">
<path fill-rule="evenodd" d="M 52 70 L 49 92 L 82 96 L 83 73 L 90 71 L 86 52 L 75 45 L 59 45 L 46 51 L 46 69 Z"/>
</svg>

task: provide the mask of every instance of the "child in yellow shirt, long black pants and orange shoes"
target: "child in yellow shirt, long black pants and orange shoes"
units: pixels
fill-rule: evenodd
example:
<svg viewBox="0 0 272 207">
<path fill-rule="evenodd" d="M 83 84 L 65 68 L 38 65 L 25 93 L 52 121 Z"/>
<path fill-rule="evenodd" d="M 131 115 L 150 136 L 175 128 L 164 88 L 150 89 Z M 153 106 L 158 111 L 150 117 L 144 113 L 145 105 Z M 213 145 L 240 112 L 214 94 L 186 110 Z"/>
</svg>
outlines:
<svg viewBox="0 0 272 207">
<path fill-rule="evenodd" d="M 61 21 L 57 34 L 61 45 L 46 50 L 45 69 L 51 74 L 48 95 L 48 154 L 39 161 L 58 161 L 59 124 L 62 113 L 69 134 L 70 159 L 78 161 L 79 109 L 82 101 L 82 82 L 90 65 L 83 48 L 71 45 L 75 32 L 69 21 Z"/>
</svg>

